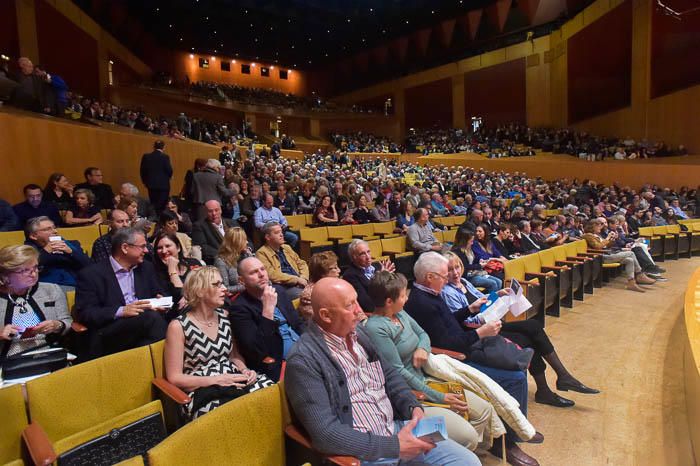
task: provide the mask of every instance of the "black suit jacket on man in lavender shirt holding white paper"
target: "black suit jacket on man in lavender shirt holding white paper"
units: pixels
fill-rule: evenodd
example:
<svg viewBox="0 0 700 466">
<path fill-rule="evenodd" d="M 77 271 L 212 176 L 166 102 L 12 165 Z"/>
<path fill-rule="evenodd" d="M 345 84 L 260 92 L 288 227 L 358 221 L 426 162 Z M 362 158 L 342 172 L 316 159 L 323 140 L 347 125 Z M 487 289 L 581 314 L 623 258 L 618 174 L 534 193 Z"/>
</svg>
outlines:
<svg viewBox="0 0 700 466">
<path fill-rule="evenodd" d="M 166 294 L 150 262 L 144 262 L 134 270 L 134 288 L 139 299 Z M 110 260 L 97 262 L 80 271 L 75 307 L 81 323 L 88 327 L 104 327 L 114 322 L 117 309 L 125 304 Z"/>
</svg>

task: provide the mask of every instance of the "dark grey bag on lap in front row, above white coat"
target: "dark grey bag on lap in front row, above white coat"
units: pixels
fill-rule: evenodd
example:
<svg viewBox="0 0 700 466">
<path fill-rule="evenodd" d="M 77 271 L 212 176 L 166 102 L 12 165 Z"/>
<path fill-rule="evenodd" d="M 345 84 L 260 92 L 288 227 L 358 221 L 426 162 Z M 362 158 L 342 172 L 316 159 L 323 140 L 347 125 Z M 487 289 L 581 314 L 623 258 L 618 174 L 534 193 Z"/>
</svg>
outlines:
<svg viewBox="0 0 700 466">
<path fill-rule="evenodd" d="M 470 361 L 509 371 L 527 369 L 535 354 L 535 350 L 532 348 L 521 348 L 500 335 L 482 338 L 474 343 L 470 349 Z"/>
</svg>

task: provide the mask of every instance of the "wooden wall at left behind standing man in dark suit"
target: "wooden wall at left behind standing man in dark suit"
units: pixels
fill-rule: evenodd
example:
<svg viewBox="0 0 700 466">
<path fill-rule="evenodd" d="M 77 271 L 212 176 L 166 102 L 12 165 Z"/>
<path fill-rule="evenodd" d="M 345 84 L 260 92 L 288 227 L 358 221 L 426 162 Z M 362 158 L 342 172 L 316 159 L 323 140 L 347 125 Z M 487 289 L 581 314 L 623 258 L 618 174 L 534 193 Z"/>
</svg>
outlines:
<svg viewBox="0 0 700 466">
<path fill-rule="evenodd" d="M 141 155 L 153 150 L 156 137 L 127 129 L 98 128 L 33 115 L 0 112 L 0 160 L 4 182 L 0 197 L 10 203 L 22 200 L 28 183 L 44 186 L 53 172 L 64 173 L 73 183 L 83 181 L 83 170 L 100 167 L 105 183 L 113 188 L 129 181 L 142 192 L 139 179 Z M 173 192 L 182 188 L 185 172 L 197 157 L 218 158 L 219 148 L 192 141 L 166 139 L 174 175 Z"/>
</svg>

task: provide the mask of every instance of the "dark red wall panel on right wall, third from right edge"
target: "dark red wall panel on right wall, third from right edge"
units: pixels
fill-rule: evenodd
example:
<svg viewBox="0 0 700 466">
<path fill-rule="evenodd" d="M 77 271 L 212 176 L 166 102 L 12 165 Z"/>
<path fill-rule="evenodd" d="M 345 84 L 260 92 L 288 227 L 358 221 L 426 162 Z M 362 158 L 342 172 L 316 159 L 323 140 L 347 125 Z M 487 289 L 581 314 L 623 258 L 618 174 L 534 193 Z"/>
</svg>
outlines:
<svg viewBox="0 0 700 466">
<path fill-rule="evenodd" d="M 464 76 L 467 122 L 481 116 L 488 125 L 526 122 L 525 58 L 481 68 Z"/>
</svg>

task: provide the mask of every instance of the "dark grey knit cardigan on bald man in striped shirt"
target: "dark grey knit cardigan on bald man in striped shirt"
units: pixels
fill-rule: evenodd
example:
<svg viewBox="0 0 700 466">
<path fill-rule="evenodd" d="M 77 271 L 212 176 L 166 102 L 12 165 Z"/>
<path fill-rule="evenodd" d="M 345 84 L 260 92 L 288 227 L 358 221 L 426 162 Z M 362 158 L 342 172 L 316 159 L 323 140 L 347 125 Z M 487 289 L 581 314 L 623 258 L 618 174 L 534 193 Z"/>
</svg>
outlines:
<svg viewBox="0 0 700 466">
<path fill-rule="evenodd" d="M 413 408 L 420 407 L 420 403 L 396 369 L 379 358 L 369 337 L 359 326 L 357 337 L 369 360 L 379 359 L 381 362 L 394 418 L 410 419 Z M 315 324 L 309 325 L 289 352 L 284 386 L 292 411 L 311 436 L 316 450 L 362 460 L 399 457 L 396 434 L 385 437 L 353 429 L 345 374 Z"/>
</svg>

